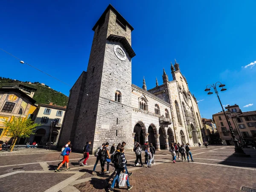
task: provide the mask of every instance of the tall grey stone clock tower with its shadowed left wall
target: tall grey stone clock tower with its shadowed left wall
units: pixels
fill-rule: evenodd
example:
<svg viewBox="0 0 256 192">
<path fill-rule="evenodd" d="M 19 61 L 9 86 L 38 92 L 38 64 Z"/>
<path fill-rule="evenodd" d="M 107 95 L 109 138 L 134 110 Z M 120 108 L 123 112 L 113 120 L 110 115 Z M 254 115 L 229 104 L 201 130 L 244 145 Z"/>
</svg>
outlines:
<svg viewBox="0 0 256 192">
<path fill-rule="evenodd" d="M 76 106 L 67 108 L 67 111 L 72 107 L 79 111 L 77 118 L 73 118 L 76 125 L 73 123 L 69 137 L 76 150 L 81 150 L 89 140 L 93 151 L 105 142 L 125 141 L 126 148 L 133 147 L 131 58 L 135 53 L 131 48 L 132 30 L 111 4 L 93 27 L 87 72 L 79 77 L 79 85 L 79 79 L 76 82 L 79 91 L 73 91 L 82 96 L 76 98 Z M 63 131 L 69 134 L 65 129 L 70 128 L 63 126 Z"/>
</svg>

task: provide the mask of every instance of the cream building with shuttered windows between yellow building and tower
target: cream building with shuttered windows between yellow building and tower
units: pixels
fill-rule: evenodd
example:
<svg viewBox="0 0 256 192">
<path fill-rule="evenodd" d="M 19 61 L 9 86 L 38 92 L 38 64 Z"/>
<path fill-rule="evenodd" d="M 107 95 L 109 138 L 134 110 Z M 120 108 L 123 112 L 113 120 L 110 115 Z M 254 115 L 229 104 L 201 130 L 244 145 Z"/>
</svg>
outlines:
<svg viewBox="0 0 256 192">
<path fill-rule="evenodd" d="M 35 123 L 41 123 L 41 126 L 36 128 L 34 135 L 31 135 L 27 141 L 34 141 L 39 145 L 44 145 L 47 142 L 57 143 L 64 119 L 66 107 L 50 104 L 39 104 L 35 113 L 30 117 L 35 120 Z"/>
</svg>

